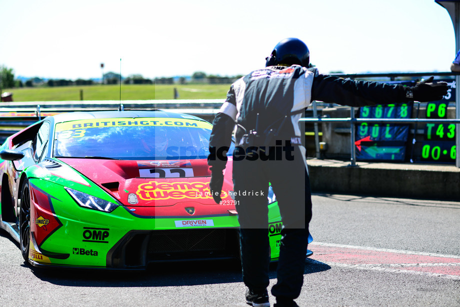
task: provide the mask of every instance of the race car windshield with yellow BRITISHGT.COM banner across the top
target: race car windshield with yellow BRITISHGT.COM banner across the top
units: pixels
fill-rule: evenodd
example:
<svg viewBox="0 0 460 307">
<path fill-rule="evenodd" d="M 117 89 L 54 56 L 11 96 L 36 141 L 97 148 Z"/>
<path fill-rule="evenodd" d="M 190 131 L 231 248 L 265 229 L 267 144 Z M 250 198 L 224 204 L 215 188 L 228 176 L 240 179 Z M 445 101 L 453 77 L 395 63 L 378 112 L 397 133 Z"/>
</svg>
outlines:
<svg viewBox="0 0 460 307">
<path fill-rule="evenodd" d="M 208 122 L 184 118 L 67 121 L 56 124 L 53 154 L 128 160 L 201 159 L 209 154 L 211 128 Z"/>
</svg>

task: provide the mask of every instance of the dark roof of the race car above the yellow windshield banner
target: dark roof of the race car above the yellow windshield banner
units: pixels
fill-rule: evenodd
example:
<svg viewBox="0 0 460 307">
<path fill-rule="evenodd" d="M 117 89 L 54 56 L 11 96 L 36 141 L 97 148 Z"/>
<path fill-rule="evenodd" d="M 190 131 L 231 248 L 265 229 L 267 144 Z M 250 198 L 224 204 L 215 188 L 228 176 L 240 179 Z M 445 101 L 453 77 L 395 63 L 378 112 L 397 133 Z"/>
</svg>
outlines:
<svg viewBox="0 0 460 307">
<path fill-rule="evenodd" d="M 126 111 L 81 111 L 81 112 L 68 112 L 46 117 L 54 122 L 63 122 L 78 119 L 90 118 L 136 118 L 136 117 L 169 117 L 169 118 L 187 118 L 205 121 L 202 118 L 170 111 L 163 110 L 126 110 Z"/>
</svg>

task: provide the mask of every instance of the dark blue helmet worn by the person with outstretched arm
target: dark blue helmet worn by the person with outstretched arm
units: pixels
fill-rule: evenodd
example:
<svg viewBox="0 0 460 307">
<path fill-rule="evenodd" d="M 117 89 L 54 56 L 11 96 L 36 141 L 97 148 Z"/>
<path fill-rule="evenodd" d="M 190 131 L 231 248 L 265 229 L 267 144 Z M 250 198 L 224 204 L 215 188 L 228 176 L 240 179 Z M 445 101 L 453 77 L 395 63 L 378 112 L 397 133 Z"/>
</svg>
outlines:
<svg viewBox="0 0 460 307">
<path fill-rule="evenodd" d="M 310 51 L 306 44 L 298 38 L 284 38 L 274 46 L 270 56 L 267 56 L 266 66 L 272 65 L 301 65 L 308 67 Z"/>
</svg>

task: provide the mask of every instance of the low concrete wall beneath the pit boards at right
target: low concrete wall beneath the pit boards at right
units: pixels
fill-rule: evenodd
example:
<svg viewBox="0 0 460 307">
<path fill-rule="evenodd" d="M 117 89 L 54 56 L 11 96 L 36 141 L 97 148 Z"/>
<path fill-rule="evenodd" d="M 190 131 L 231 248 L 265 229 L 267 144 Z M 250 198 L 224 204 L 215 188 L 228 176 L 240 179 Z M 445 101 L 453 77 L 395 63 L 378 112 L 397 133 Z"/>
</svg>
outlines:
<svg viewBox="0 0 460 307">
<path fill-rule="evenodd" d="M 454 165 L 308 159 L 313 192 L 460 200 L 460 169 Z"/>
</svg>

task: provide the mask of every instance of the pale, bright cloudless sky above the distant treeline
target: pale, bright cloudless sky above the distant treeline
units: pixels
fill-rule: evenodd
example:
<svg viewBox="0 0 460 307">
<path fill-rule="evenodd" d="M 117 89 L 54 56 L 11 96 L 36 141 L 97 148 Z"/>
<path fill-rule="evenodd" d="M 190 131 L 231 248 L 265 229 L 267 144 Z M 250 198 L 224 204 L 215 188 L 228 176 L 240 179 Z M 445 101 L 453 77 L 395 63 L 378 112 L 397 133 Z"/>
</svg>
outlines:
<svg viewBox="0 0 460 307">
<path fill-rule="evenodd" d="M 0 64 L 16 76 L 236 75 L 298 37 L 323 72 L 448 71 L 434 0 L 0 0 Z"/>
</svg>

